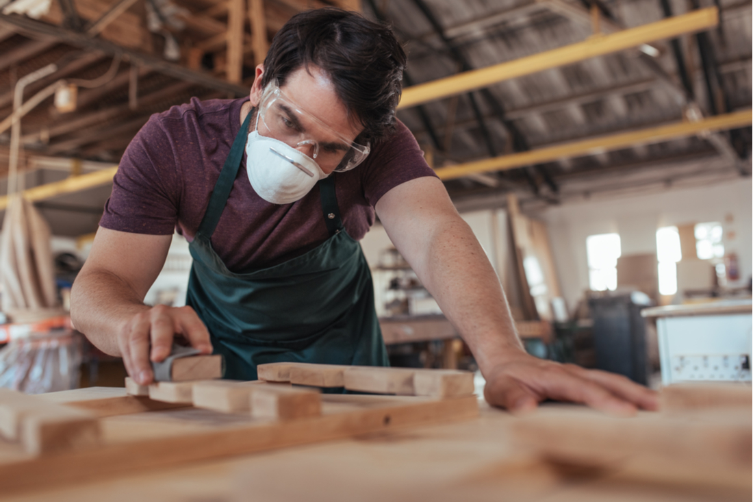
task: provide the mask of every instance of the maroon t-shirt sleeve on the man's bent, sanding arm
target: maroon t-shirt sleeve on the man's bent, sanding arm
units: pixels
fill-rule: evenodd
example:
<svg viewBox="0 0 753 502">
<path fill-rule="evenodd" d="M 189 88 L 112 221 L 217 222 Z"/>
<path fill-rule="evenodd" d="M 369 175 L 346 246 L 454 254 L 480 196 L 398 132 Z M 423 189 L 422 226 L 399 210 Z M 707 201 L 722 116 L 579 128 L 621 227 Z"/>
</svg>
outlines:
<svg viewBox="0 0 753 502">
<path fill-rule="evenodd" d="M 180 186 L 172 142 L 152 115 L 120 159 L 99 225 L 137 234 L 172 234 Z"/>
</svg>

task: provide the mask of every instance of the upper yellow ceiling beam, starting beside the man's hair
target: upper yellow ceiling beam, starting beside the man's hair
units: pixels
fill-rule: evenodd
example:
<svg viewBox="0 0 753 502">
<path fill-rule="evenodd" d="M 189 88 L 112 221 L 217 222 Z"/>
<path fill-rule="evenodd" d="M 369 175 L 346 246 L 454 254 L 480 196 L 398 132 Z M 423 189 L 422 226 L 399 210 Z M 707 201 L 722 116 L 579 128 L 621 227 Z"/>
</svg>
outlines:
<svg viewBox="0 0 753 502">
<path fill-rule="evenodd" d="M 585 41 L 559 47 L 552 51 L 544 51 L 518 60 L 407 87 L 403 90 L 398 109 L 428 103 L 435 99 L 453 96 L 469 90 L 489 87 L 489 85 L 511 78 L 530 75 L 545 69 L 559 68 L 652 41 L 672 38 L 684 33 L 698 32 L 717 26 L 718 23 L 718 10 L 706 8 L 609 35 L 594 35 Z"/>
</svg>

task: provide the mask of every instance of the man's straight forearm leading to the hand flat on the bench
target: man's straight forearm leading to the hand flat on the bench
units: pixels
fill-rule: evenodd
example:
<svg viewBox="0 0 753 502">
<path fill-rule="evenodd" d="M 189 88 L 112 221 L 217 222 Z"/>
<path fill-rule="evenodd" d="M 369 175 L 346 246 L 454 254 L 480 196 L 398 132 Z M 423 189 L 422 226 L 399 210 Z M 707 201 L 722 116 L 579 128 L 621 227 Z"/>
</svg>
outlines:
<svg viewBox="0 0 753 502">
<path fill-rule="evenodd" d="M 416 274 L 468 343 L 486 374 L 523 350 L 505 292 L 471 228 L 456 218 L 437 225 L 419 249 Z"/>
</svg>

